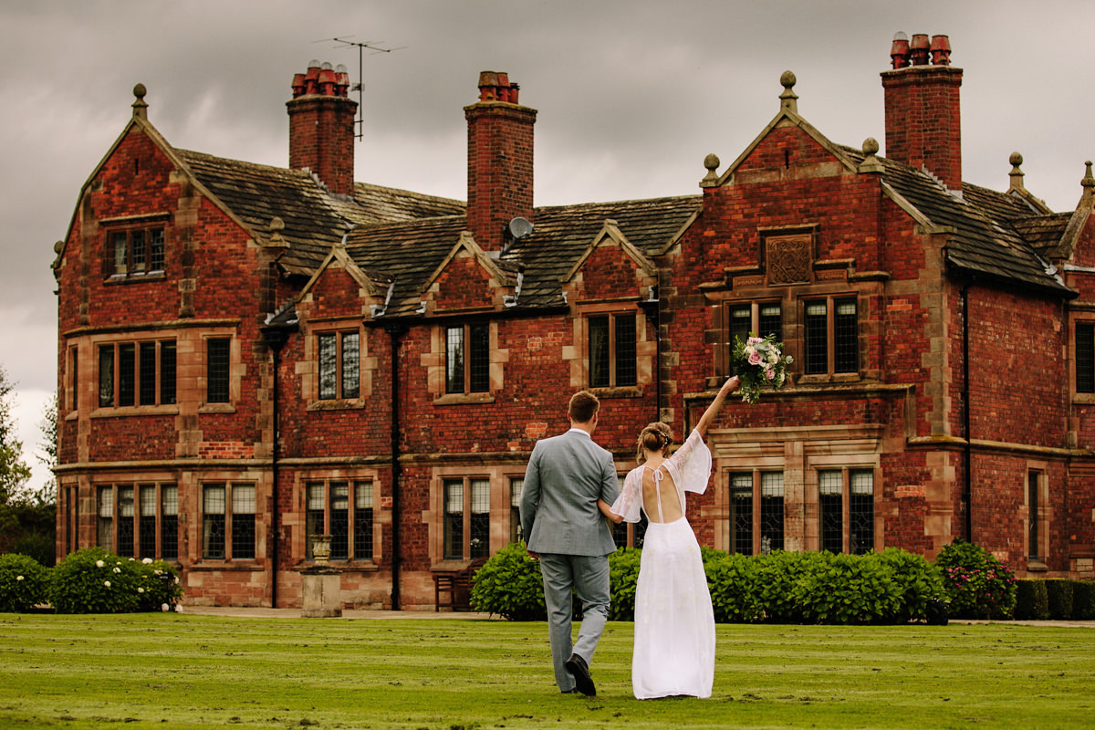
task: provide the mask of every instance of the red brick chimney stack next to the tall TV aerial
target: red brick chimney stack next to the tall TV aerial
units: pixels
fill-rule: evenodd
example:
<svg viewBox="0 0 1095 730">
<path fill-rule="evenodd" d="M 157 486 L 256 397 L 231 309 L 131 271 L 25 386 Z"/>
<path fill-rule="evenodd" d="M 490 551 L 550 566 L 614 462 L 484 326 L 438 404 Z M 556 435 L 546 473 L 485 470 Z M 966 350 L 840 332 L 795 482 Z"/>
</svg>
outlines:
<svg viewBox="0 0 1095 730">
<path fill-rule="evenodd" d="M 311 170 L 327 190 L 354 194 L 354 114 L 344 66 L 311 61 L 292 78 L 289 112 L 289 166 Z"/>
</svg>

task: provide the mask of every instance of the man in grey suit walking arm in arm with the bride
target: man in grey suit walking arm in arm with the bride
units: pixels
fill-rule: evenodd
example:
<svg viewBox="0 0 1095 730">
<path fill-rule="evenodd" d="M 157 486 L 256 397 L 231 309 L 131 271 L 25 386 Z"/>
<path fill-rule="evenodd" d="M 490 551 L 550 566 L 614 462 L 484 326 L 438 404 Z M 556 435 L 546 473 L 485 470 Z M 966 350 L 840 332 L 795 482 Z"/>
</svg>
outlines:
<svg viewBox="0 0 1095 730">
<path fill-rule="evenodd" d="M 609 613 L 612 533 L 597 500 L 616 498 L 612 454 L 593 443 L 600 403 L 592 393 L 570 397 L 570 430 L 537 442 L 521 491 L 521 534 L 540 558 L 555 682 L 565 693 L 596 695 L 589 662 Z M 578 641 L 570 644 L 572 595 L 581 601 Z"/>
</svg>

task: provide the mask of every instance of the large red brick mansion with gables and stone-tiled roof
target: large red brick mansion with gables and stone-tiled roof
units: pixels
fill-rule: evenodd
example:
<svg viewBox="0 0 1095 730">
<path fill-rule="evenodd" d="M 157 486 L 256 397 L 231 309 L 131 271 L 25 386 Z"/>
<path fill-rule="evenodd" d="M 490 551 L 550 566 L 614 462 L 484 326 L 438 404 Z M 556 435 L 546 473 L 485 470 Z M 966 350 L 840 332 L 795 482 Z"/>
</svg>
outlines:
<svg viewBox="0 0 1095 730">
<path fill-rule="evenodd" d="M 1021 576 L 1095 576 L 1091 163 L 1061 213 L 1017 153 L 1006 189 L 964 183 L 946 36 L 891 59 L 886 157 L 812 127 L 787 72 L 736 159 L 695 161 L 696 195 L 554 207 L 505 73 L 463 109 L 466 202 L 353 179 L 330 65 L 292 80 L 288 167 L 176 149 L 138 84 L 54 263 L 58 556 L 174 560 L 186 602 L 291 607 L 327 534 L 343 605 L 433 609 L 435 575 L 518 537 L 574 391 L 623 475 L 757 332 L 792 382 L 714 424 L 701 543 L 968 537 Z"/>
</svg>

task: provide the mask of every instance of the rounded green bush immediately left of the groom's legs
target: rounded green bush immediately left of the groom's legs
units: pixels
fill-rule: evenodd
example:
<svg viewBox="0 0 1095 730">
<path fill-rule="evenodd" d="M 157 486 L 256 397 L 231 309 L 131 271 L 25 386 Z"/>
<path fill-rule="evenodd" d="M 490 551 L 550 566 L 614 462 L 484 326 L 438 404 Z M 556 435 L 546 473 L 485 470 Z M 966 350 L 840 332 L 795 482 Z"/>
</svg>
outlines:
<svg viewBox="0 0 1095 730">
<path fill-rule="evenodd" d="M 509 621 L 544 621 L 544 586 L 539 564 L 525 543 L 510 543 L 475 572 L 472 607 Z"/>
</svg>

